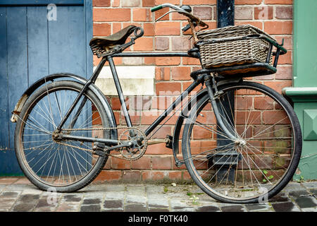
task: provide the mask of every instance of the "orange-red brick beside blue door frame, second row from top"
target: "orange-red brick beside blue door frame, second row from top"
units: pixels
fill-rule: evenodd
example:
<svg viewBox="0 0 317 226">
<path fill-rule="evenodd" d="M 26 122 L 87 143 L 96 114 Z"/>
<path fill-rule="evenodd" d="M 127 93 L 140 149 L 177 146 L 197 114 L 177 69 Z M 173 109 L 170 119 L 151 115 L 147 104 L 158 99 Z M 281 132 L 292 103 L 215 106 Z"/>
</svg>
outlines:
<svg viewBox="0 0 317 226">
<path fill-rule="evenodd" d="M 94 21 L 129 21 L 130 8 L 94 8 Z"/>
</svg>

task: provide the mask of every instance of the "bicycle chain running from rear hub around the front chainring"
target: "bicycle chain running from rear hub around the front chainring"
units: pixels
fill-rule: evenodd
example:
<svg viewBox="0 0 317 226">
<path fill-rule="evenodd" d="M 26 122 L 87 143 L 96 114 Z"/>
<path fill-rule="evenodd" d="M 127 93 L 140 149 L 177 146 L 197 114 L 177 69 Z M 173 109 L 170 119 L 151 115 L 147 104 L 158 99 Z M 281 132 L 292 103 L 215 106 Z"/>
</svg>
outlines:
<svg viewBox="0 0 317 226">
<path fill-rule="evenodd" d="M 144 136 L 144 151 L 143 151 L 143 154 L 145 153 L 145 150 L 147 150 L 147 136 L 145 136 L 144 132 L 141 131 L 140 129 L 138 129 L 137 127 L 128 127 L 128 126 L 121 126 L 121 127 L 103 127 L 103 128 L 96 128 L 96 129 L 85 129 L 85 128 L 82 128 L 82 129 L 62 129 L 62 131 L 89 131 L 89 130 L 110 130 L 110 129 L 135 129 L 137 131 L 139 131 L 142 136 Z M 78 147 L 78 146 L 75 146 L 75 145 L 71 145 L 69 143 L 62 143 L 62 142 L 58 142 L 58 141 L 54 141 L 55 143 L 58 143 L 58 144 L 61 144 L 61 145 L 66 145 L 70 148 L 77 148 L 77 149 L 80 149 L 80 150 L 85 150 L 85 151 L 89 151 L 90 153 L 94 153 L 93 150 L 90 150 L 90 149 L 87 149 L 87 148 L 81 148 L 81 147 Z M 119 136 L 119 143 L 120 143 L 120 136 Z M 143 155 L 142 154 L 142 155 Z M 122 160 L 130 160 L 130 161 L 135 161 L 135 160 L 138 160 L 140 157 L 142 157 L 142 155 L 139 155 L 138 157 L 135 157 L 135 158 L 128 158 L 128 157 L 120 157 L 118 155 L 111 155 L 110 153 L 106 153 L 106 155 L 108 156 L 111 156 L 111 157 L 116 157 L 116 158 L 119 158 L 119 159 L 122 159 Z"/>
</svg>

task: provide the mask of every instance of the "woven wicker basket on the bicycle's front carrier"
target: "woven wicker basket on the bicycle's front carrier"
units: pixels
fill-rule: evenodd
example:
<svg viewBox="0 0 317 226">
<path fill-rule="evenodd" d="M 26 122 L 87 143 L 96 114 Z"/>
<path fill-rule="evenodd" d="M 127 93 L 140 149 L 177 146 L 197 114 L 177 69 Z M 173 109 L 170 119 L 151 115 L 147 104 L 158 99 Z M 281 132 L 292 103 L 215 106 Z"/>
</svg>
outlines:
<svg viewBox="0 0 317 226">
<path fill-rule="evenodd" d="M 263 32 L 252 25 L 235 25 L 197 32 L 199 40 L 243 37 L 246 35 L 266 35 L 274 40 L 270 35 L 266 34 L 266 32 Z M 269 47 L 270 44 L 266 40 L 251 39 L 202 44 L 199 46 L 199 50 L 201 53 L 202 65 L 206 69 L 209 69 L 214 67 L 266 62 Z"/>
</svg>

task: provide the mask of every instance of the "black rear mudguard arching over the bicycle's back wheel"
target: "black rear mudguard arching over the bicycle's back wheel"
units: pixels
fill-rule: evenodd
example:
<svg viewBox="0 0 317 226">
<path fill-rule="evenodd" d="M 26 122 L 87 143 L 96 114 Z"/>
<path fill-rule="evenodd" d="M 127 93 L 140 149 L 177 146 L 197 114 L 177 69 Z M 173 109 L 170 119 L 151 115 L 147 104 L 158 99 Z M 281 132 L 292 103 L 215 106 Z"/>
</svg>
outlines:
<svg viewBox="0 0 317 226">
<path fill-rule="evenodd" d="M 11 121 L 12 122 L 16 122 L 18 120 L 18 116 L 19 116 L 19 114 L 21 112 L 21 109 L 23 108 L 23 106 L 24 106 L 25 102 L 27 101 L 27 99 L 30 97 L 30 95 L 32 95 L 32 93 L 35 90 L 37 90 L 39 87 L 41 87 L 44 83 L 46 83 L 48 81 L 54 81 L 57 78 L 73 78 L 73 79 L 79 81 L 82 84 L 87 83 L 87 79 L 86 78 L 82 78 L 80 76 L 76 76 L 73 73 L 54 73 L 54 74 L 51 74 L 51 75 L 46 76 L 44 78 L 41 78 L 38 81 L 36 81 L 35 83 L 33 83 L 29 88 L 27 88 L 27 90 L 25 90 L 23 95 L 20 97 L 20 99 L 18 100 L 17 104 L 15 105 L 15 107 L 13 109 Z M 110 126 L 111 127 L 116 127 L 117 126 L 116 118 L 114 117 L 113 110 L 111 109 L 108 101 L 106 100 L 106 97 L 104 97 L 104 94 L 94 84 L 90 84 L 89 85 L 89 89 L 92 90 L 92 92 L 95 95 L 97 95 L 97 97 L 99 97 L 99 100 L 101 101 L 101 103 L 104 106 L 104 109 L 106 111 L 107 117 L 109 119 Z M 111 129 L 111 138 L 118 139 L 118 131 L 117 131 L 117 129 Z"/>
</svg>

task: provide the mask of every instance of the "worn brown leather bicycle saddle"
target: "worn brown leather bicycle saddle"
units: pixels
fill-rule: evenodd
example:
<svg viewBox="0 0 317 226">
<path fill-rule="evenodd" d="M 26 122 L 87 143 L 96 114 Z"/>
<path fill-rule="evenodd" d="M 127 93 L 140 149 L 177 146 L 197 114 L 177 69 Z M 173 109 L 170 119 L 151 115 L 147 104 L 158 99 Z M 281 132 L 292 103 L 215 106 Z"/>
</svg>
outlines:
<svg viewBox="0 0 317 226">
<path fill-rule="evenodd" d="M 135 31 L 135 28 L 137 28 L 135 25 L 129 25 L 113 35 L 109 35 L 107 37 L 94 37 L 90 40 L 89 45 L 91 47 L 98 46 L 104 51 L 109 51 L 118 44 L 124 44 L 132 32 Z"/>
</svg>

